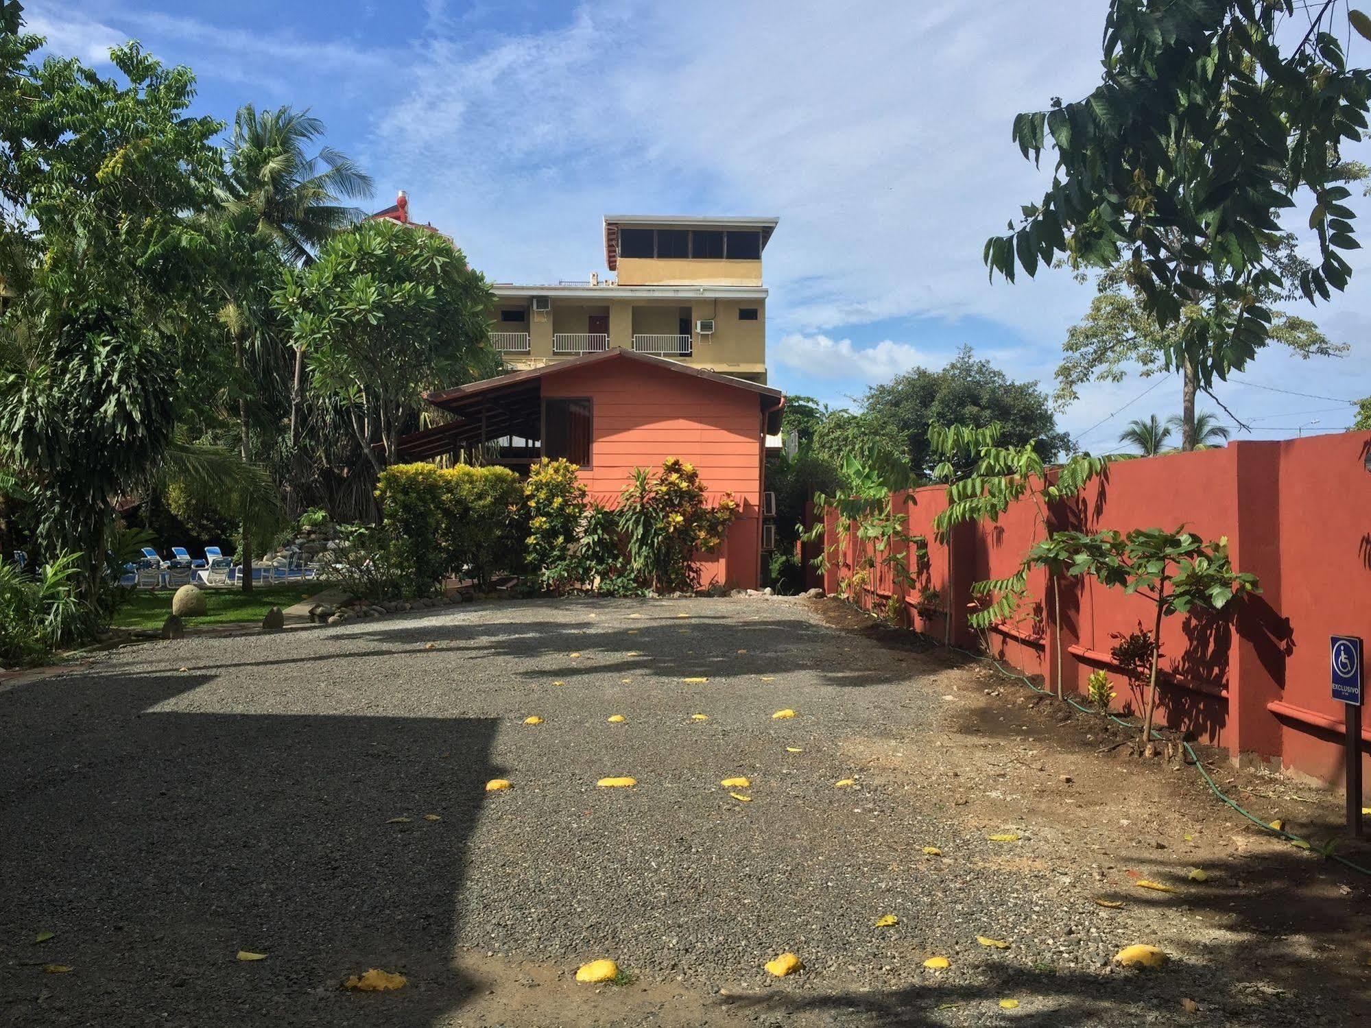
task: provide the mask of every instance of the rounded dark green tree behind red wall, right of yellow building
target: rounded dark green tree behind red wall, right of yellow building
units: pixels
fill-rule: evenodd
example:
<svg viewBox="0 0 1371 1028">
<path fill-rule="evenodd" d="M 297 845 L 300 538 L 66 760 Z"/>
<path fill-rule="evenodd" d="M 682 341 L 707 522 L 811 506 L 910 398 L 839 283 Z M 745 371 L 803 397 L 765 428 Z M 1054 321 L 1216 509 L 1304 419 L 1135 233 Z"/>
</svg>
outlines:
<svg viewBox="0 0 1371 1028">
<path fill-rule="evenodd" d="M 914 367 L 871 387 L 861 403 L 864 414 L 899 433 L 910 467 L 923 478 L 938 463 L 928 441 L 934 425 L 999 425 L 1004 445 L 1031 443 L 1043 461 L 1071 448 L 1038 382 L 1012 381 L 990 360 L 978 360 L 971 347 L 938 371 Z"/>
</svg>

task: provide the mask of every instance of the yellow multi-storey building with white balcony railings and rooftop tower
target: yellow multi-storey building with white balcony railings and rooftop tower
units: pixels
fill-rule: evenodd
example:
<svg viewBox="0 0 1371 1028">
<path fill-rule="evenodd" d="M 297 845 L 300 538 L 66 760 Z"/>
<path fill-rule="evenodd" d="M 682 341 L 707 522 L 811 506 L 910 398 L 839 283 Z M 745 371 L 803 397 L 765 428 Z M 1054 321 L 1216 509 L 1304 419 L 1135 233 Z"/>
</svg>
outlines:
<svg viewBox="0 0 1371 1028">
<path fill-rule="evenodd" d="M 622 347 L 765 382 L 762 251 L 776 222 L 606 215 L 617 278 L 496 282 L 491 343 L 513 369 Z"/>
</svg>

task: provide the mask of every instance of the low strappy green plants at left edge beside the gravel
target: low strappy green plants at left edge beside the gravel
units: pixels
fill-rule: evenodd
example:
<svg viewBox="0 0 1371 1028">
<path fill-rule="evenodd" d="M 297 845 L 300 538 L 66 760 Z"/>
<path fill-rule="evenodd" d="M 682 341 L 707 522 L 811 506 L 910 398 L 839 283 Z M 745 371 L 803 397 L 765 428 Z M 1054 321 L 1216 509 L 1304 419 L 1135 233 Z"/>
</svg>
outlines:
<svg viewBox="0 0 1371 1028">
<path fill-rule="evenodd" d="M 0 558 L 0 665 L 41 663 L 93 632 L 92 610 L 77 593 L 80 576 L 80 554 L 62 554 L 37 576 Z"/>
</svg>

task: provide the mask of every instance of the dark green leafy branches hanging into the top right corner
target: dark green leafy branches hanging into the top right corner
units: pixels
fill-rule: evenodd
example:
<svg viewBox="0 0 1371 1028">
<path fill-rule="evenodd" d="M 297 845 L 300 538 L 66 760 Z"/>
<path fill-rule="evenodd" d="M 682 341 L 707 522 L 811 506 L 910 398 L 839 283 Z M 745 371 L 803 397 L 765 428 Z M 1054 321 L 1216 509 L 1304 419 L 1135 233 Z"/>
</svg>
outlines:
<svg viewBox="0 0 1371 1028">
<path fill-rule="evenodd" d="M 1305 7 L 1308 30 L 1282 32 Z M 1338 252 L 1357 247 L 1341 147 L 1367 127 L 1371 74 L 1346 67 L 1333 16 L 1333 0 L 1111 0 L 1102 82 L 1015 118 L 1023 155 L 1036 163 L 1050 147 L 1057 160 L 1042 200 L 987 240 L 991 276 L 1032 276 L 1058 255 L 1121 263 L 1169 330 L 1153 340 L 1164 367 L 1204 391 L 1243 369 L 1271 337 L 1272 295 L 1327 299 L 1352 274 Z M 1296 270 L 1276 217 L 1304 192 L 1319 263 Z"/>
</svg>

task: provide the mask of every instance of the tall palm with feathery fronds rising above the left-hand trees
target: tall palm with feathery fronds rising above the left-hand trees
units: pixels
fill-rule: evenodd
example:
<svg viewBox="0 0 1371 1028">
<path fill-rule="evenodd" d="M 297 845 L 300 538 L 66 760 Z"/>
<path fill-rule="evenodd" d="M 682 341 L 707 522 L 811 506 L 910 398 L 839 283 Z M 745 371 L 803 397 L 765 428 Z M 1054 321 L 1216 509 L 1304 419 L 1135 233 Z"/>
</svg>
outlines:
<svg viewBox="0 0 1371 1028">
<path fill-rule="evenodd" d="M 372 195 L 373 182 L 356 163 L 321 145 L 324 122 L 307 110 L 278 107 L 258 111 L 239 108 L 229 141 L 229 182 L 223 204 L 236 218 L 250 217 L 256 232 L 276 241 L 292 263 L 310 263 L 314 251 L 335 232 L 359 222 L 365 212 L 340 203 Z M 304 378 L 304 350 L 295 350 L 291 388 L 291 448 L 299 439 L 299 410 Z"/>
</svg>

